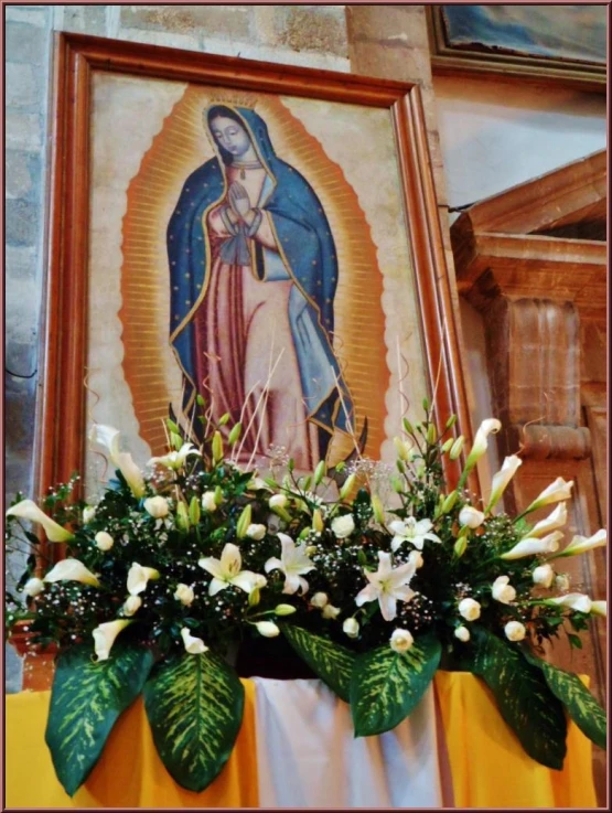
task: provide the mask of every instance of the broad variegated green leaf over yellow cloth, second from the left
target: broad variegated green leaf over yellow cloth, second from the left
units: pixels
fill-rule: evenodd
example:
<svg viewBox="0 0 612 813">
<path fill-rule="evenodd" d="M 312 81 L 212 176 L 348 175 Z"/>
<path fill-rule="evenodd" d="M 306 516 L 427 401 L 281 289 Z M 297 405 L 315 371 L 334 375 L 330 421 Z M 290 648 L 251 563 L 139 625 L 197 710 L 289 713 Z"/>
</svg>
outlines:
<svg viewBox="0 0 612 813">
<path fill-rule="evenodd" d="M 159 664 L 144 685 L 144 707 L 161 761 L 182 788 L 200 792 L 229 759 L 243 721 L 245 689 L 210 650 Z"/>
</svg>

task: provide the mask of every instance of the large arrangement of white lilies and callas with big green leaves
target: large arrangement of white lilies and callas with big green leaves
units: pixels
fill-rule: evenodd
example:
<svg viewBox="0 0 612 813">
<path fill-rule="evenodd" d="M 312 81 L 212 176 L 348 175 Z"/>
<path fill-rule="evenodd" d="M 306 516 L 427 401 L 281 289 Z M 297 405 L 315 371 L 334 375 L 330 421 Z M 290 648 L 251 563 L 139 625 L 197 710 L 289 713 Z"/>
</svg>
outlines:
<svg viewBox="0 0 612 813">
<path fill-rule="evenodd" d="M 116 469 L 97 504 L 74 498 L 77 477 L 41 506 L 18 495 L 7 546 L 26 544 L 30 556 L 7 593 L 8 628 L 21 621 L 34 642 L 57 645 L 46 741 L 71 795 L 140 693 L 168 771 L 206 788 L 243 717 L 227 654 L 279 635 L 351 705 L 356 736 L 394 728 L 438 668 L 460 668 L 490 686 L 538 762 L 562 767 L 566 712 L 605 747 L 597 700 L 541 657 L 545 641 L 565 633 L 579 646 L 589 619 L 606 614 L 559 568 L 604 545 L 605 531 L 560 548 L 572 488 L 560 478 L 519 516 L 496 513 L 517 456 L 482 504 L 466 482 L 500 421 L 483 421 L 466 454 L 454 416 L 440 431 L 423 406 L 423 421 L 405 420 L 395 440 L 396 468 L 359 457 L 298 475 L 277 450 L 262 478 L 235 462 L 240 424 L 213 426 L 204 414 L 201 446 L 168 420 L 169 451 L 143 470 L 118 431 L 94 427 Z M 445 459 L 463 461 L 455 489 Z M 549 515 L 530 522 L 543 506 Z M 41 526 L 45 545 L 23 521 Z"/>
</svg>

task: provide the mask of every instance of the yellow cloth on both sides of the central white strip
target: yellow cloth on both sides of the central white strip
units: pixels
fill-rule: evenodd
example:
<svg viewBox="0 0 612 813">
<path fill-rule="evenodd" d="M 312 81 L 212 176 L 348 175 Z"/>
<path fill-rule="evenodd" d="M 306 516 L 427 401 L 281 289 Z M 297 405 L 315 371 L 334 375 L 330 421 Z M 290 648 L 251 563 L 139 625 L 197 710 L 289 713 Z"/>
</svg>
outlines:
<svg viewBox="0 0 612 813">
<path fill-rule="evenodd" d="M 86 784 L 71 799 L 44 742 L 49 692 L 8 695 L 7 807 L 257 807 L 255 686 L 246 680 L 245 718 L 222 774 L 203 793 L 176 785 L 159 759 L 142 700 L 118 720 Z M 436 692 L 458 807 L 595 807 L 591 744 L 569 725 L 562 771 L 534 762 L 476 677 L 438 672 Z M 339 781 L 342 781 L 339 778 Z"/>
</svg>

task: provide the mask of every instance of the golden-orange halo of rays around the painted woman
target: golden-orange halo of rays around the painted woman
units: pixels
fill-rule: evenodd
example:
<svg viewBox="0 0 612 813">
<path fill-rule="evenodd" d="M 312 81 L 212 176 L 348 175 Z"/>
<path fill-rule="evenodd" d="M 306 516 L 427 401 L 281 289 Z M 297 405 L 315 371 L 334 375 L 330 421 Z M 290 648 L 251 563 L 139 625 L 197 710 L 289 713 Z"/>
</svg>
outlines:
<svg viewBox="0 0 612 813">
<path fill-rule="evenodd" d="M 124 372 L 140 435 L 159 454 L 165 446 L 162 419 L 176 403 L 178 368 L 169 351 L 170 279 L 165 231 L 187 175 L 214 153 L 203 111 L 223 99 L 218 88 L 187 86 L 144 154 L 128 189 L 122 224 L 121 270 Z M 328 215 L 340 266 L 334 300 L 334 350 L 355 404 L 357 431 L 368 419 L 366 454 L 377 458 L 385 439 L 385 393 L 389 384 L 382 308 L 383 279 L 376 246 L 357 195 L 342 169 L 282 104 L 271 95 L 250 97 L 268 124 L 279 158 L 313 186 Z M 226 104 L 232 104 L 232 92 Z M 316 103 L 312 103 L 316 115 Z M 265 352 L 262 350 L 262 352 Z M 346 456 L 353 441 L 334 438 L 331 462 Z"/>
</svg>

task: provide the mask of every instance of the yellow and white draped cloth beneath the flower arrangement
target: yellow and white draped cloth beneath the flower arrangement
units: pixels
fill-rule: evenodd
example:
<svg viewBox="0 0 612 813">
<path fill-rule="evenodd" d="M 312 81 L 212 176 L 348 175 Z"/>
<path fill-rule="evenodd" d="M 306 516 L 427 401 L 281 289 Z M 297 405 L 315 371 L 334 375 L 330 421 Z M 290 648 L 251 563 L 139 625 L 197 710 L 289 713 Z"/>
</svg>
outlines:
<svg viewBox="0 0 612 813">
<path fill-rule="evenodd" d="M 562 771 L 544 768 L 471 674 L 438 672 L 408 720 L 365 739 L 353 737 L 348 707 L 320 681 L 243 684 L 236 747 L 202 793 L 167 773 L 139 698 L 71 799 L 44 742 L 50 692 L 8 695 L 7 807 L 597 807 L 591 744 L 581 731 L 570 723 Z"/>
</svg>

